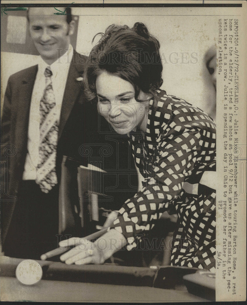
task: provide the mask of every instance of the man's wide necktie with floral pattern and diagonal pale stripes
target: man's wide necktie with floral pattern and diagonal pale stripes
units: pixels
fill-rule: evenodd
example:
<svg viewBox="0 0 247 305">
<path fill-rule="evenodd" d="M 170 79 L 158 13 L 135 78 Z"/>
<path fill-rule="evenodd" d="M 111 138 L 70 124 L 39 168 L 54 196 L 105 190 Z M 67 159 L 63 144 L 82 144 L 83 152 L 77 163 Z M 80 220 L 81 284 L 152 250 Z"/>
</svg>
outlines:
<svg viewBox="0 0 247 305">
<path fill-rule="evenodd" d="M 52 88 L 52 71 L 45 69 L 46 88 L 39 104 L 39 163 L 36 183 L 42 192 L 48 193 L 57 184 L 56 152 L 58 136 L 58 117 L 55 96 Z"/>
</svg>

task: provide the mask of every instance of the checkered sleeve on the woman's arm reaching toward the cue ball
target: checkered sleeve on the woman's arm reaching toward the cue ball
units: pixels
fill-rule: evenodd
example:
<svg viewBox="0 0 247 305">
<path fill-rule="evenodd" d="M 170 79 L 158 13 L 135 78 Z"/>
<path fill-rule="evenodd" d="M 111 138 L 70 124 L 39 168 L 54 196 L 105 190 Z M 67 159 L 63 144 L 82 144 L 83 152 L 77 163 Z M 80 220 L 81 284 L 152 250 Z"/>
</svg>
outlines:
<svg viewBox="0 0 247 305">
<path fill-rule="evenodd" d="M 136 247 L 136 237 L 153 228 L 162 213 L 170 209 L 173 199 L 179 195 L 184 179 L 191 174 L 201 151 L 200 131 L 187 131 L 163 138 L 150 165 L 149 176 L 140 192 L 128 199 L 119 210 L 112 228 L 122 233 L 127 249 Z"/>
</svg>

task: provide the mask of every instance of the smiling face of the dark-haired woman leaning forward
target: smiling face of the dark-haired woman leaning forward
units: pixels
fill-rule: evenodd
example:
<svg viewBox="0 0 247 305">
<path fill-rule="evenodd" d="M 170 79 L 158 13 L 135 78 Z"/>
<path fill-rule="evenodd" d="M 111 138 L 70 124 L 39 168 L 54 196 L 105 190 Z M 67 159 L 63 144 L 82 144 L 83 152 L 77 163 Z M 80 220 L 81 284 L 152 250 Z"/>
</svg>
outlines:
<svg viewBox="0 0 247 305">
<path fill-rule="evenodd" d="M 125 135 L 136 131 L 136 127 L 146 131 L 148 94 L 141 91 L 138 98 L 143 102 L 137 102 L 135 89 L 130 82 L 104 70 L 96 78 L 95 86 L 98 112 L 117 133 Z"/>
</svg>

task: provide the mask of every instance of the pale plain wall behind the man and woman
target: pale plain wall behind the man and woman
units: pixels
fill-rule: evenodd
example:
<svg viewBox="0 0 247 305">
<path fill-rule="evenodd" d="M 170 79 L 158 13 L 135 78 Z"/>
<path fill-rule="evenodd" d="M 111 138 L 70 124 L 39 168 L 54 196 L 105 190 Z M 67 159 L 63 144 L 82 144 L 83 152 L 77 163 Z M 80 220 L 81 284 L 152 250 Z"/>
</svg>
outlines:
<svg viewBox="0 0 247 305">
<path fill-rule="evenodd" d="M 143 22 L 160 41 L 163 85 L 215 117 L 215 89 L 204 56 L 215 44 L 217 16 L 188 16 L 193 8 L 72 8 L 79 16 L 76 49 L 88 55 L 92 38 L 112 23 Z M 3 17 L 2 17 L 3 18 Z M 97 38 L 95 39 L 95 43 Z M 2 93 L 11 74 L 36 64 L 37 56 L 1 52 Z"/>
</svg>

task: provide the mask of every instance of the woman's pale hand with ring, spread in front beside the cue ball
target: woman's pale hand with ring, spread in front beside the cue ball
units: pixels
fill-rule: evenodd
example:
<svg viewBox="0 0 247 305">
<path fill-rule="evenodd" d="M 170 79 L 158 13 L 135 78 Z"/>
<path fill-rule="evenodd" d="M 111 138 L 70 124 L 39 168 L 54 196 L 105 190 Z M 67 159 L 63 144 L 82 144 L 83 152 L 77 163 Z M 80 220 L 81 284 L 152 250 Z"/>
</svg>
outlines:
<svg viewBox="0 0 247 305">
<path fill-rule="evenodd" d="M 126 245 L 125 237 L 111 229 L 95 242 L 87 239 L 72 237 L 59 243 L 60 247 L 75 246 L 73 249 L 60 256 L 60 260 L 66 264 L 103 264 L 115 252 Z"/>
</svg>

